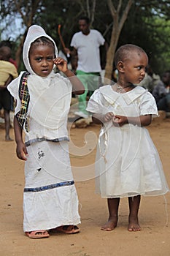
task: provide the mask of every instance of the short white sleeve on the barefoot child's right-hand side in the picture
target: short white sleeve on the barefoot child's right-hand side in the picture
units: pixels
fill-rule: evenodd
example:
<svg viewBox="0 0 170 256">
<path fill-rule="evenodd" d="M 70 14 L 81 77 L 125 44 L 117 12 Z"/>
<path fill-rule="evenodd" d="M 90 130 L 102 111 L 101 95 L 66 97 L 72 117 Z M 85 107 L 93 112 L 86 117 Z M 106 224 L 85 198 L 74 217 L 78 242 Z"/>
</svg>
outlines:
<svg viewBox="0 0 170 256">
<path fill-rule="evenodd" d="M 155 102 L 155 98 L 152 94 L 147 91 L 146 94 L 143 95 L 142 100 L 139 105 L 140 116 L 144 115 L 152 115 L 152 117 L 158 116 L 158 108 Z"/>
</svg>

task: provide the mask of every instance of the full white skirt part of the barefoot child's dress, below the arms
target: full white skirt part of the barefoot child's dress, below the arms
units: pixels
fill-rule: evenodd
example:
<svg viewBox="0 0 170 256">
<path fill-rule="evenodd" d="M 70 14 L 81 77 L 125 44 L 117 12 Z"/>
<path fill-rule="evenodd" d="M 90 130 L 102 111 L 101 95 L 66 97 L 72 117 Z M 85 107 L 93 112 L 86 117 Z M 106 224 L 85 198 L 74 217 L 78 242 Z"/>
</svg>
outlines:
<svg viewBox="0 0 170 256">
<path fill-rule="evenodd" d="M 144 127 L 111 127 L 99 136 L 96 192 L 101 197 L 163 195 L 169 192 L 161 159 Z"/>
</svg>

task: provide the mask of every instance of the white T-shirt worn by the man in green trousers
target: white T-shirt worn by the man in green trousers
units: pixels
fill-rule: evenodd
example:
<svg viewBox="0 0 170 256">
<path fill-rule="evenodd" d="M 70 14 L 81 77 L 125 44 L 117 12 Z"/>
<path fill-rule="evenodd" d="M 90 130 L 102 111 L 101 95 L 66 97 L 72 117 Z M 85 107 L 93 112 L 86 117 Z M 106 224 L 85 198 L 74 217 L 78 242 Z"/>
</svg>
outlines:
<svg viewBox="0 0 170 256">
<path fill-rule="evenodd" d="M 77 70 L 83 72 L 101 72 L 100 50 L 104 45 L 104 37 L 95 29 L 90 29 L 88 35 L 77 32 L 72 37 L 71 46 L 77 50 Z"/>
</svg>

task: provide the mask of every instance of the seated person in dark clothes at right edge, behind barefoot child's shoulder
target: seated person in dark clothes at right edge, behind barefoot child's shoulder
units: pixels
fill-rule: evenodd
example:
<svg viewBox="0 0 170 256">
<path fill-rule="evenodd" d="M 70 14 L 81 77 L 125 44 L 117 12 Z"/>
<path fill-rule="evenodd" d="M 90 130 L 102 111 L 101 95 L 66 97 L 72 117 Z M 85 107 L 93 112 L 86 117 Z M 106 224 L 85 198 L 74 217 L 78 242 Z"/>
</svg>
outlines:
<svg viewBox="0 0 170 256">
<path fill-rule="evenodd" d="M 158 110 L 170 112 L 170 70 L 163 73 L 162 79 L 152 90 Z"/>
</svg>

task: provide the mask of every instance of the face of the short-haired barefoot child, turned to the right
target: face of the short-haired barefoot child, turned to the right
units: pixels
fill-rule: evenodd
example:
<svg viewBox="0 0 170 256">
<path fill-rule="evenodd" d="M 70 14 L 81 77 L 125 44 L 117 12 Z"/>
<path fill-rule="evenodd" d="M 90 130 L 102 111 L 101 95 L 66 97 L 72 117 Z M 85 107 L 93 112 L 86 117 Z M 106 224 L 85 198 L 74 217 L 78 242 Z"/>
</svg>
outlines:
<svg viewBox="0 0 170 256">
<path fill-rule="evenodd" d="M 144 79 L 147 63 L 148 58 L 146 53 L 131 53 L 131 59 L 123 62 L 125 82 L 134 84 L 140 83 Z"/>
</svg>

